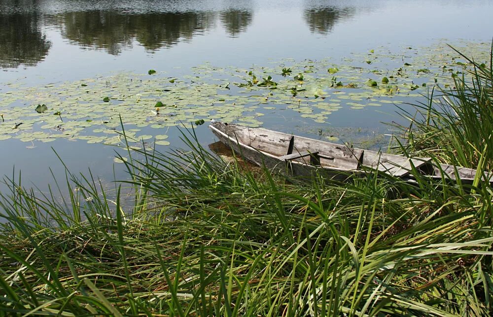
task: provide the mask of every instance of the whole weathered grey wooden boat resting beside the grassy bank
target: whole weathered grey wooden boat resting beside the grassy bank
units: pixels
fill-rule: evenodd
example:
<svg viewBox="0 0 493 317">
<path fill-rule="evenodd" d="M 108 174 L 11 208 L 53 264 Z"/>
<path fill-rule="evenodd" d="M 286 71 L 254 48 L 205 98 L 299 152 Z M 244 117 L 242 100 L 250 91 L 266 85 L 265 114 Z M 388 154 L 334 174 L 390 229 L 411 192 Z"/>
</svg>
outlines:
<svg viewBox="0 0 493 317">
<path fill-rule="evenodd" d="M 465 183 L 472 183 L 476 176 L 475 169 L 435 164 L 430 158 L 407 158 L 259 127 L 215 122 L 209 128 L 219 141 L 243 158 L 292 176 L 309 176 L 316 169 L 330 176 L 377 169 L 411 181 L 416 172 L 437 180 L 442 176 L 451 180 L 460 178 Z M 412 173 L 413 169 L 415 173 Z M 491 182 L 491 174 L 483 179 Z"/>
</svg>

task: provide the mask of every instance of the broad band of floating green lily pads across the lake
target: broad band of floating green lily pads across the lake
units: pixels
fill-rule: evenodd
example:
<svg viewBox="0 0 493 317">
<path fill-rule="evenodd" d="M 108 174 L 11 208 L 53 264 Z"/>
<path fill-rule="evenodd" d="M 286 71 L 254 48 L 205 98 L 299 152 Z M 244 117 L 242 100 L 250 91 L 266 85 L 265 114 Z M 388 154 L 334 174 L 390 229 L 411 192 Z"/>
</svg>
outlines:
<svg viewBox="0 0 493 317">
<path fill-rule="evenodd" d="M 459 49 L 487 64 L 489 45 Z M 244 69 L 207 63 L 181 77 L 151 69 L 41 87 L 7 83 L 0 92 L 0 140 L 119 144 L 120 118 L 132 127 L 126 131 L 130 140 L 159 145 L 169 144 L 163 134 L 168 127 L 211 119 L 259 126 L 262 116 L 287 110 L 322 124 L 342 108 L 414 102 L 426 87 L 450 87 L 454 74 L 470 67 L 443 43 L 369 52 L 337 63 L 286 59 Z"/>
</svg>

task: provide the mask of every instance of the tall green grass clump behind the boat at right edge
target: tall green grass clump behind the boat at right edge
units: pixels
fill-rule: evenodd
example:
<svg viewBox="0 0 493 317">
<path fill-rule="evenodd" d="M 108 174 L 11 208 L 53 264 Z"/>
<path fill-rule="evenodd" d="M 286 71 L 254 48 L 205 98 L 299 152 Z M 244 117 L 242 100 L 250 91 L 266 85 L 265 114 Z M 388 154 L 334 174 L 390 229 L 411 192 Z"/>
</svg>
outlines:
<svg viewBox="0 0 493 317">
<path fill-rule="evenodd" d="M 455 49 L 454 49 L 455 50 Z M 481 158 L 493 168 L 493 46 L 489 65 L 477 63 L 455 50 L 472 71 L 454 77 L 454 85 L 432 90 L 428 103 L 402 109 L 409 126 L 397 126 L 407 151 L 432 156 L 443 163 L 476 168 Z M 471 77 L 469 79 L 469 76 Z"/>
</svg>

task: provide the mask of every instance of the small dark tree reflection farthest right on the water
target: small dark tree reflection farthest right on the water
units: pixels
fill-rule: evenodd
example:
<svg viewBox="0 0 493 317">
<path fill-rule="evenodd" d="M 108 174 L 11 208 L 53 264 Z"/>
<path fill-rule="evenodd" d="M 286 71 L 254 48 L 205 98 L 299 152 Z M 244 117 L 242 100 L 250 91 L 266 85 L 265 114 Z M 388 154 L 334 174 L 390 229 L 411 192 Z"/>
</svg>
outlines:
<svg viewBox="0 0 493 317">
<path fill-rule="evenodd" d="M 303 14 L 312 33 L 326 34 L 332 32 L 338 22 L 352 18 L 354 7 L 322 7 L 305 9 Z"/>
</svg>

